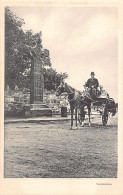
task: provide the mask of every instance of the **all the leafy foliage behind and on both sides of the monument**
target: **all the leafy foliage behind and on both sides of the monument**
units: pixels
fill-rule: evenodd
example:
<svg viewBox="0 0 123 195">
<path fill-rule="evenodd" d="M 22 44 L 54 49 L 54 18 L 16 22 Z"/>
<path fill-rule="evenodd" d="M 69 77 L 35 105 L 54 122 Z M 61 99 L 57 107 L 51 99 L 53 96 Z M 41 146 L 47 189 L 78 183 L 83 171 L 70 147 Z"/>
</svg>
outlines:
<svg viewBox="0 0 123 195">
<path fill-rule="evenodd" d="M 24 20 L 12 13 L 9 7 L 5 8 L 5 85 L 11 89 L 15 85 L 19 88 L 30 87 L 31 59 L 30 51 L 36 45 L 41 32 L 33 34 L 31 30 L 23 31 Z M 40 47 L 42 48 L 40 38 Z M 30 48 L 32 48 L 30 50 Z M 44 87 L 48 90 L 55 89 L 61 79 L 67 77 L 66 73 L 57 73 L 56 70 L 45 67 L 51 66 L 49 51 L 43 49 L 42 61 L 44 64 Z"/>
</svg>

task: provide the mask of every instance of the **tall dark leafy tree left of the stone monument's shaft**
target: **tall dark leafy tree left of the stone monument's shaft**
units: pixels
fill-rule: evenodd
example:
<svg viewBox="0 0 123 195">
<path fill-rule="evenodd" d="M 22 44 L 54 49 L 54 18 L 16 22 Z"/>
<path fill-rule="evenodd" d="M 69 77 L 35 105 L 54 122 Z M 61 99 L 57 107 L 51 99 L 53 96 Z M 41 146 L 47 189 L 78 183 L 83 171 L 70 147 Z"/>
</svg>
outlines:
<svg viewBox="0 0 123 195">
<path fill-rule="evenodd" d="M 29 87 L 31 60 L 28 57 L 29 47 L 34 47 L 40 33 L 31 30 L 23 31 L 24 20 L 5 8 L 5 84 L 14 88 L 15 84 Z M 42 47 L 42 45 L 41 45 Z"/>
</svg>

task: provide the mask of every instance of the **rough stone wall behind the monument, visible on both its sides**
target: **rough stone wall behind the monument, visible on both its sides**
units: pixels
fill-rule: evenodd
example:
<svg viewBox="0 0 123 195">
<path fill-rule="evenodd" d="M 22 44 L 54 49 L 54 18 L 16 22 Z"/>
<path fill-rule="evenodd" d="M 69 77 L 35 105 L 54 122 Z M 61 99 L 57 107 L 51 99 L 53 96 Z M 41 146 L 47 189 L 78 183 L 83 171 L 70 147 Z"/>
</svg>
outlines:
<svg viewBox="0 0 123 195">
<path fill-rule="evenodd" d="M 67 107 L 69 112 L 69 103 L 67 101 L 66 93 L 61 96 L 56 96 L 54 91 L 44 90 L 44 103 L 52 109 L 53 114 L 61 114 L 61 107 Z M 5 90 L 4 92 L 4 113 L 5 117 L 23 117 L 23 107 L 30 104 L 30 90 L 18 89 Z"/>
</svg>

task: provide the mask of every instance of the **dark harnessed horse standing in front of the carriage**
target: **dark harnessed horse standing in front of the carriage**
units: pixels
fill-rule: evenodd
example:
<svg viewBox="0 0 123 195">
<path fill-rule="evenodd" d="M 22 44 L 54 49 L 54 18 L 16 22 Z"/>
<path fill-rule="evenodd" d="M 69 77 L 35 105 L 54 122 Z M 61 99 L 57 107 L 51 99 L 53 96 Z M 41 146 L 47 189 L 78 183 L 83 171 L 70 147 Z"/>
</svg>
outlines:
<svg viewBox="0 0 123 195">
<path fill-rule="evenodd" d="M 84 126 L 84 120 L 85 120 L 85 110 L 84 107 L 87 106 L 88 109 L 88 118 L 89 118 L 89 126 L 91 125 L 90 121 L 90 113 L 91 113 L 91 102 L 92 99 L 87 94 L 84 94 L 83 92 L 80 92 L 67 83 L 62 82 L 58 88 L 56 89 L 56 95 L 60 95 L 63 92 L 67 92 L 68 94 L 68 101 L 70 104 L 70 110 L 71 110 L 71 128 L 73 129 L 73 114 L 75 110 L 75 120 L 76 120 L 76 129 L 78 129 L 78 123 L 77 123 L 77 116 L 79 111 L 79 122 L 81 126 Z"/>
</svg>

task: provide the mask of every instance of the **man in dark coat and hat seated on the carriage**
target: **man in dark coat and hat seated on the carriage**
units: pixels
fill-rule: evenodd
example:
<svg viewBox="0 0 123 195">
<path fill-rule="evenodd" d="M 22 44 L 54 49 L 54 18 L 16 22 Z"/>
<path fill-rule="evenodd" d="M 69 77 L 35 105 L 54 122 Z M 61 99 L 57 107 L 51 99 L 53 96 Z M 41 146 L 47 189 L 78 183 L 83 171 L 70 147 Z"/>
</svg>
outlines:
<svg viewBox="0 0 123 195">
<path fill-rule="evenodd" d="M 97 88 L 99 86 L 99 82 L 94 76 L 94 72 L 91 72 L 91 78 L 88 79 L 86 83 L 86 87 L 88 87 L 92 99 L 97 97 Z"/>
</svg>

